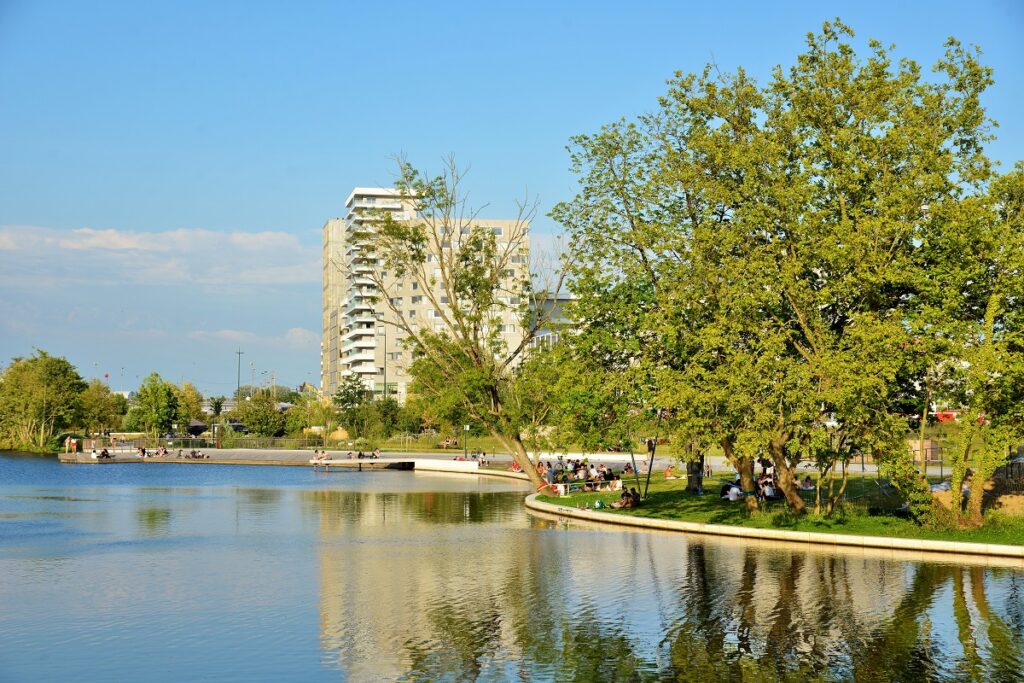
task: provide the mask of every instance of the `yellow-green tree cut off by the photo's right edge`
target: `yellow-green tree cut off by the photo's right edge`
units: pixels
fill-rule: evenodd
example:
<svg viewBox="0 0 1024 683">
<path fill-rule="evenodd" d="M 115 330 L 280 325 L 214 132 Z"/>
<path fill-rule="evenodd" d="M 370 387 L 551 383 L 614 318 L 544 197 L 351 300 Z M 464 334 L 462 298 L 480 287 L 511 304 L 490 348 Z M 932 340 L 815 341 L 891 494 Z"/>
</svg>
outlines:
<svg viewBox="0 0 1024 683">
<path fill-rule="evenodd" d="M 1024 436 L 1024 164 L 994 178 L 986 196 L 950 207 L 926 250 L 941 264 L 930 280 L 924 332 L 943 340 L 938 397 L 963 407 L 951 457 L 952 509 L 973 477 L 965 521 L 983 522 L 984 486 Z"/>
</svg>

